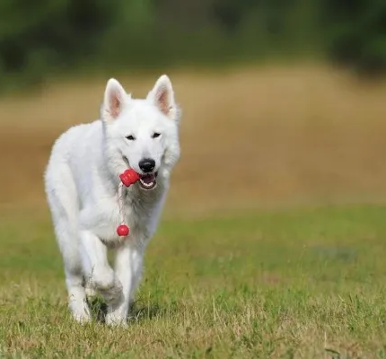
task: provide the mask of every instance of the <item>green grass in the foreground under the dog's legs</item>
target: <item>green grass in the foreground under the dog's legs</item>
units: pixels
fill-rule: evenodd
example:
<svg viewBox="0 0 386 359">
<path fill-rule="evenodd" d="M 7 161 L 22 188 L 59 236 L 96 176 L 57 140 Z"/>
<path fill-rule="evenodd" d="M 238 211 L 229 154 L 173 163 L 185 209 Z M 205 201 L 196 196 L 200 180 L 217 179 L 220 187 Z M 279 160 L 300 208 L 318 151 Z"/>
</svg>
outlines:
<svg viewBox="0 0 386 359">
<path fill-rule="evenodd" d="M 48 218 L 0 221 L 0 356 L 386 358 L 386 208 L 163 221 L 127 329 L 76 324 Z"/>
</svg>

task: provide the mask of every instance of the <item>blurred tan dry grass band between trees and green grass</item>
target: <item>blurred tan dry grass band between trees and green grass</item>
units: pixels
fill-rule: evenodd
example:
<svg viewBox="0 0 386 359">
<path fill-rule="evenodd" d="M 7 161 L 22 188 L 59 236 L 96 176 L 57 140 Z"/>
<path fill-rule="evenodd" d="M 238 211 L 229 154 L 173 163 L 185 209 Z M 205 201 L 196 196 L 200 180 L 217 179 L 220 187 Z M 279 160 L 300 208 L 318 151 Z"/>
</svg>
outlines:
<svg viewBox="0 0 386 359">
<path fill-rule="evenodd" d="M 184 118 L 169 213 L 385 198 L 385 86 L 320 66 L 171 79 Z M 3 204 L 45 206 L 50 146 L 66 127 L 98 117 L 106 80 L 48 83 L 31 97 L 0 101 Z M 154 83 L 119 80 L 134 96 Z"/>
</svg>

